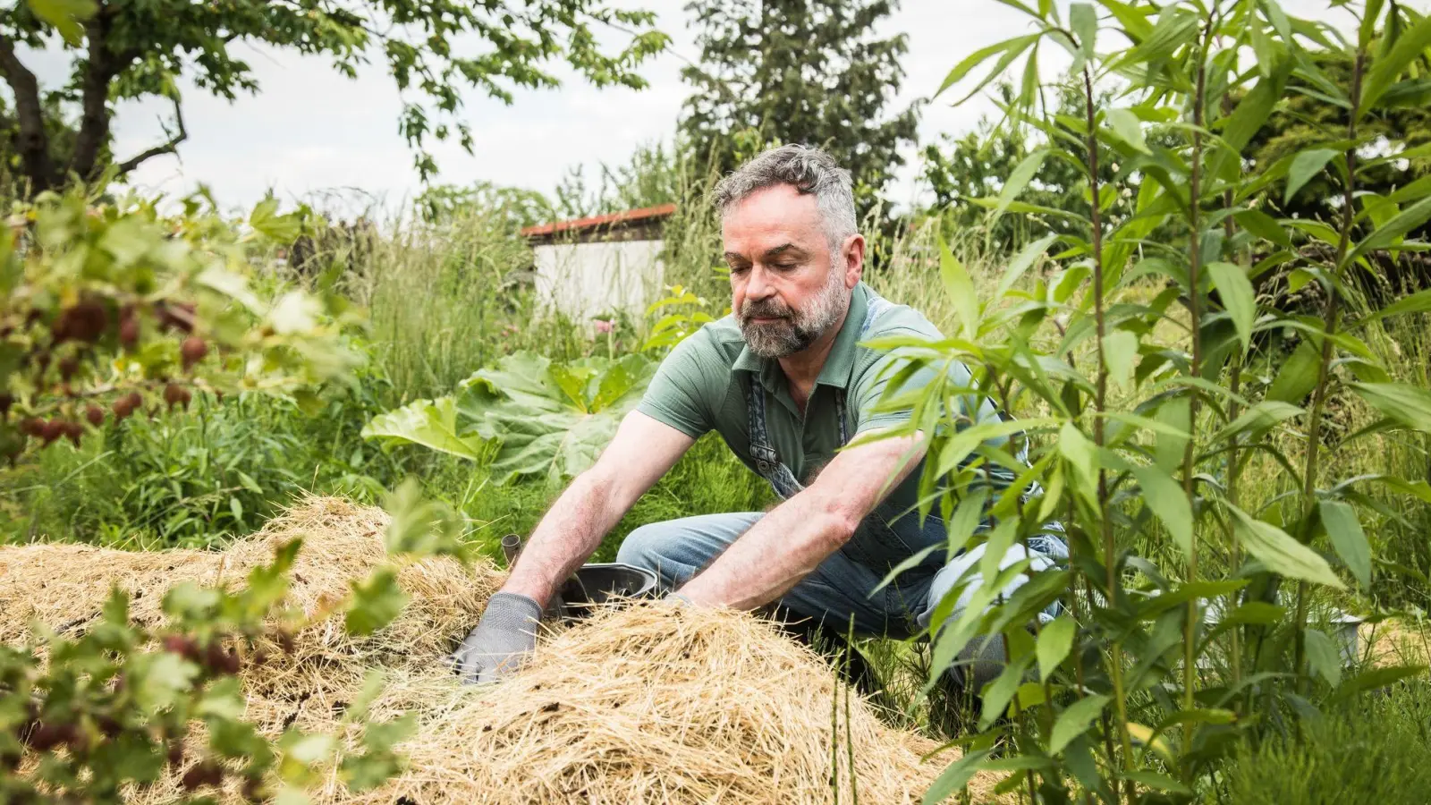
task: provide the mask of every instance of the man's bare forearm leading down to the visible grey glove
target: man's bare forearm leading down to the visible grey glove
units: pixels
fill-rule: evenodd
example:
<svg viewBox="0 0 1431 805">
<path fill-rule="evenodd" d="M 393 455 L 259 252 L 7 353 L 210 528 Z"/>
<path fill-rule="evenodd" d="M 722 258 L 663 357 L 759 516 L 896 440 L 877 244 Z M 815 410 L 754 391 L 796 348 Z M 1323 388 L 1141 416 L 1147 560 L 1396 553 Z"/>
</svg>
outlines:
<svg viewBox="0 0 1431 805">
<path fill-rule="evenodd" d="M 601 537 L 693 444 L 694 438 L 665 423 L 640 411 L 627 414 L 597 463 L 572 478 L 537 524 L 502 592 L 547 606 Z"/>
</svg>

